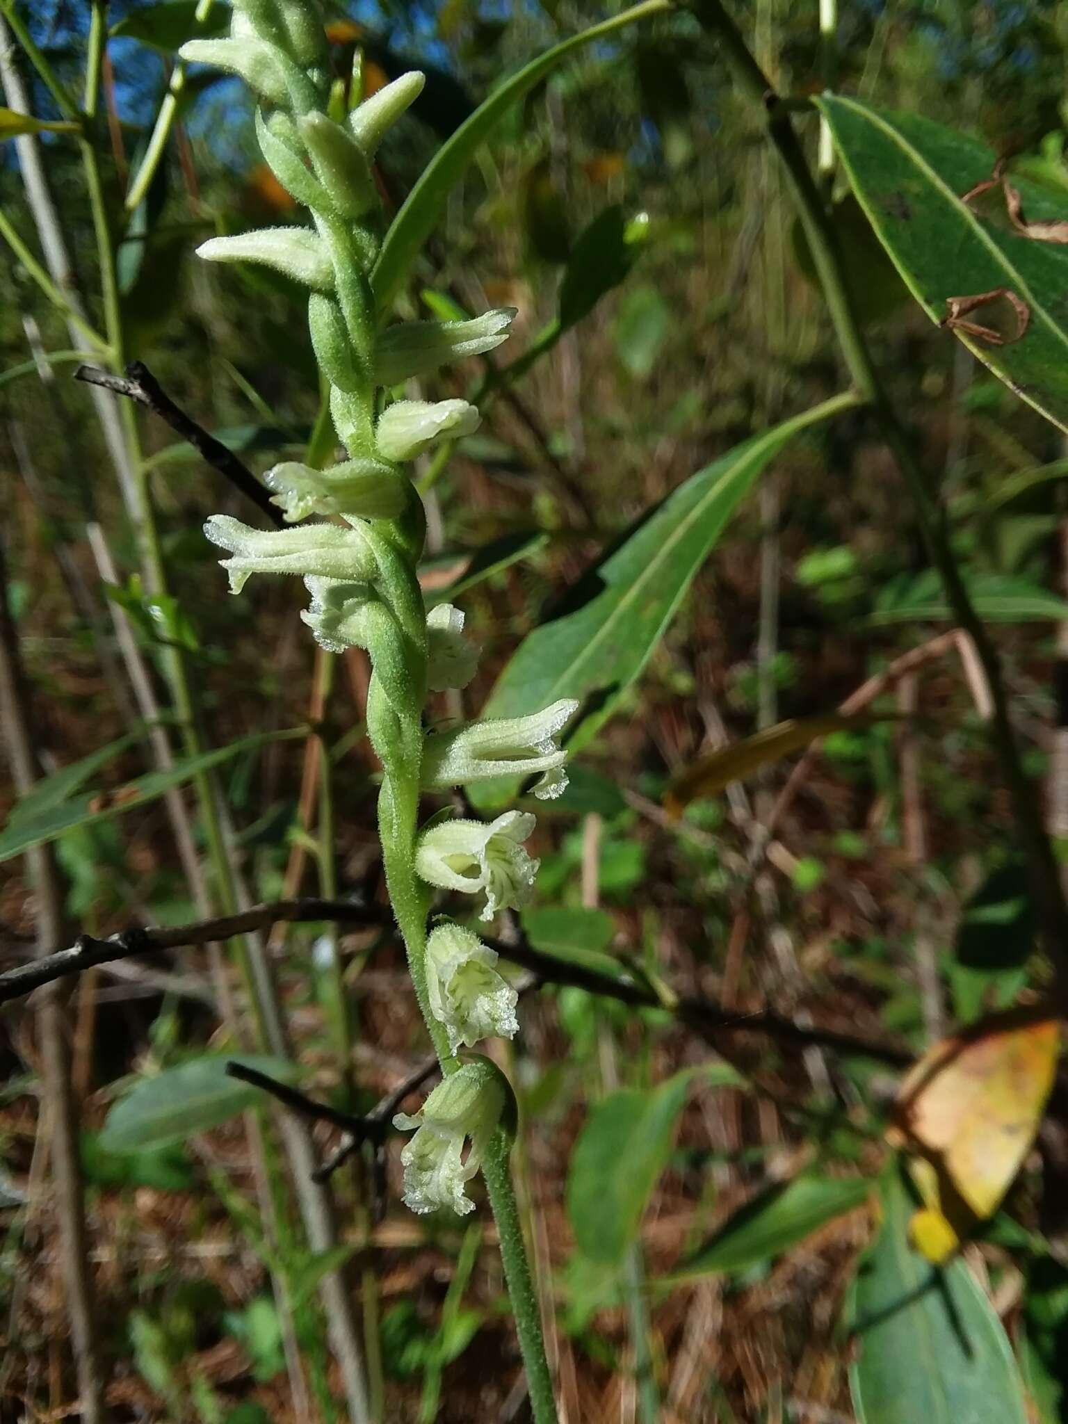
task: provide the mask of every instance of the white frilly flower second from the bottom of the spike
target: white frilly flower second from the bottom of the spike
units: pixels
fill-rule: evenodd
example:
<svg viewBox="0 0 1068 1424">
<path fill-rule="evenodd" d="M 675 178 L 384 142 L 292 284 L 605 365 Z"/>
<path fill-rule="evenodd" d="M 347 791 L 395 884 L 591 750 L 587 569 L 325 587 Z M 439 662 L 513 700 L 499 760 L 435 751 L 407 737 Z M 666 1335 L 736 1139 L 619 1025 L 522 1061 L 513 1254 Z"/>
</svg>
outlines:
<svg viewBox="0 0 1068 1424">
<path fill-rule="evenodd" d="M 450 1052 L 483 1038 L 511 1038 L 518 1032 L 517 991 L 497 970 L 497 953 L 477 934 L 443 921 L 426 946 L 430 1011 L 444 1024 Z"/>
</svg>

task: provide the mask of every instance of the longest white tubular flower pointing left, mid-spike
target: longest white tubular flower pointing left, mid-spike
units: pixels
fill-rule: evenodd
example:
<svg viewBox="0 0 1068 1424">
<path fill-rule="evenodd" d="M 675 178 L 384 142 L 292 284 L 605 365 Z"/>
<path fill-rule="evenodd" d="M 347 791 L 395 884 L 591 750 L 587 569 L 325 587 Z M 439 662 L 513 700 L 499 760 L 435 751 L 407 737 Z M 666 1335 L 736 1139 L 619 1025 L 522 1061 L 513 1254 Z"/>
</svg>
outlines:
<svg viewBox="0 0 1068 1424">
<path fill-rule="evenodd" d="M 319 574 L 328 578 L 370 578 L 375 555 L 363 535 L 339 524 L 302 524 L 292 530 L 253 530 L 228 514 L 212 514 L 204 533 L 234 558 L 219 562 L 229 590 L 239 594 L 249 574 Z"/>
</svg>

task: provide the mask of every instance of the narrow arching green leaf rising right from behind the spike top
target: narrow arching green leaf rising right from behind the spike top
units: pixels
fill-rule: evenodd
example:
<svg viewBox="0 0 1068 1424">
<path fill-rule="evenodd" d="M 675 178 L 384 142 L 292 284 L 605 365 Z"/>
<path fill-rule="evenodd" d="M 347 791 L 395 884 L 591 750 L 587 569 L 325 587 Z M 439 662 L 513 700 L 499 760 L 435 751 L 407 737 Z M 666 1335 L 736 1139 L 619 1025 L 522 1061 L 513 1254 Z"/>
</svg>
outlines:
<svg viewBox="0 0 1068 1424">
<path fill-rule="evenodd" d="M 602 40 L 617 30 L 634 24 L 637 20 L 661 14 L 669 9 L 669 0 L 644 0 L 642 4 L 632 6 L 611 20 L 594 24 L 588 30 L 582 30 L 581 34 L 572 34 L 568 40 L 538 56 L 537 60 L 531 60 L 518 74 L 513 74 L 511 78 L 506 80 L 446 140 L 423 169 L 414 188 L 407 195 L 403 208 L 393 219 L 386 234 L 386 241 L 382 244 L 382 252 L 372 273 L 375 298 L 382 313 L 389 312 L 393 299 L 412 269 L 412 263 L 437 226 L 454 184 L 507 110 L 513 104 L 517 104 L 524 94 L 528 94 L 538 80 L 543 80 L 572 50 L 578 50 L 584 44 L 592 44 L 594 40 Z"/>
</svg>

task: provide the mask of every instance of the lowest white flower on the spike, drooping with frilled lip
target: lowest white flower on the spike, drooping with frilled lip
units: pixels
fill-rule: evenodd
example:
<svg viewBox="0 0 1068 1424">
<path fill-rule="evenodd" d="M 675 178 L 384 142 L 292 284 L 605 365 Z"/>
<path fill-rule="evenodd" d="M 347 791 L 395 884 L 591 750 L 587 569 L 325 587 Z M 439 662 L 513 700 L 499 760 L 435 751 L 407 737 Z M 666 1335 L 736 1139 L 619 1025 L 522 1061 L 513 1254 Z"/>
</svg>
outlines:
<svg viewBox="0 0 1068 1424">
<path fill-rule="evenodd" d="M 451 1206 L 459 1216 L 474 1210 L 464 1186 L 478 1172 L 493 1134 L 508 1105 L 507 1084 L 486 1058 L 466 1062 L 443 1078 L 416 1114 L 399 1112 L 393 1126 L 416 1129 L 400 1153 L 404 1202 L 424 1215 Z M 470 1139 L 464 1159 L 464 1142 Z"/>
</svg>

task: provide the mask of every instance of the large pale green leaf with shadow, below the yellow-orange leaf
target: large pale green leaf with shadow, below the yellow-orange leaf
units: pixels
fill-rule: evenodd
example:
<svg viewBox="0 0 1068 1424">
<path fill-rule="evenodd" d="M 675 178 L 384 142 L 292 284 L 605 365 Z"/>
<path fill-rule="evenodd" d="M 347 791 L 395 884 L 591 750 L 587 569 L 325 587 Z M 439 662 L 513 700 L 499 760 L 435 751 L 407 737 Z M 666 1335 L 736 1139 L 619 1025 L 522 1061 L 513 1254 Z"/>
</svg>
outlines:
<svg viewBox="0 0 1068 1424">
<path fill-rule="evenodd" d="M 928 1265 L 909 1245 L 913 1206 L 897 1173 L 883 1226 L 850 1292 L 859 1424 L 1027 1424 L 1005 1331 L 963 1260 Z"/>
</svg>

